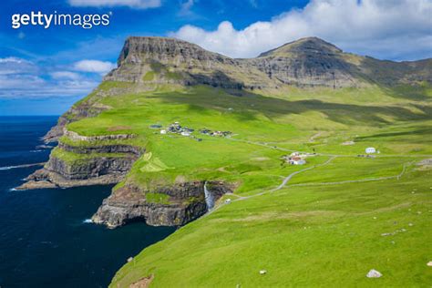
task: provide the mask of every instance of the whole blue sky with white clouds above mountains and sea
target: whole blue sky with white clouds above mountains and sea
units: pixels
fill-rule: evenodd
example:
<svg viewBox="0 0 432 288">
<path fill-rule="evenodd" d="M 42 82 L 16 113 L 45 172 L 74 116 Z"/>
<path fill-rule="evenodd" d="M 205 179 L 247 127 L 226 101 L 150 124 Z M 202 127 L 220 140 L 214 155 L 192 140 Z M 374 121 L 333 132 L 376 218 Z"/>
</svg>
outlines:
<svg viewBox="0 0 432 288">
<path fill-rule="evenodd" d="M 13 15 L 109 15 L 108 26 L 12 27 Z M 127 36 L 171 36 L 229 57 L 318 36 L 395 61 L 432 57 L 432 0 L 7 0 L 0 116 L 59 115 L 116 67 Z"/>
</svg>

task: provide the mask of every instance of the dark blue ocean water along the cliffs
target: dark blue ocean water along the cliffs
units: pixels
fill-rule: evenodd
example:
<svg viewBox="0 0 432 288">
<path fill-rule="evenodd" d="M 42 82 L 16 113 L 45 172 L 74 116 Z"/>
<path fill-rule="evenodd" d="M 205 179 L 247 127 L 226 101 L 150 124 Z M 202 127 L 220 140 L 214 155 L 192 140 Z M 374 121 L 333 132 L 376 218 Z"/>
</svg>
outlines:
<svg viewBox="0 0 432 288">
<path fill-rule="evenodd" d="M 0 117 L 0 287 L 106 287 L 130 256 L 174 231 L 130 223 L 118 229 L 86 220 L 108 186 L 12 190 L 44 162 L 36 149 L 57 117 Z"/>
</svg>

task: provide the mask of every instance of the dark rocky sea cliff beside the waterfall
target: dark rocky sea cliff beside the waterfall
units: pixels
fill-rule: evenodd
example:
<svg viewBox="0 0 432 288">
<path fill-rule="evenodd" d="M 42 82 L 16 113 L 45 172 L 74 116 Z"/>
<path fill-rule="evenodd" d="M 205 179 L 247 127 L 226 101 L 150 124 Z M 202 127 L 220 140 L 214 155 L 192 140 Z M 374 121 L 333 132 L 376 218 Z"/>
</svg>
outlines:
<svg viewBox="0 0 432 288">
<path fill-rule="evenodd" d="M 211 195 L 217 201 L 231 187 L 223 182 L 210 182 Z M 157 197 L 147 197 L 148 195 Z M 164 201 L 157 201 L 160 197 Z M 156 201 L 155 201 L 156 199 Z M 113 191 L 92 217 L 95 223 L 115 228 L 128 221 L 143 220 L 153 226 L 180 226 L 208 211 L 204 199 L 204 182 L 186 182 L 155 190 L 141 190 L 128 184 Z"/>
</svg>

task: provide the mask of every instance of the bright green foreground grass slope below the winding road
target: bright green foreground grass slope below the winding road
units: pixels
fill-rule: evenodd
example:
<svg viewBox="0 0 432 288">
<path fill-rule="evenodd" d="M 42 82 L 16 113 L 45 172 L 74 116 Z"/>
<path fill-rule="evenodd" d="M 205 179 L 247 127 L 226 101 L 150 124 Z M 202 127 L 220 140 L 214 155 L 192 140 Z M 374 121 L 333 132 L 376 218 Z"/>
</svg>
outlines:
<svg viewBox="0 0 432 288">
<path fill-rule="evenodd" d="M 231 202 L 141 252 L 111 286 L 152 274 L 152 287 L 428 287 L 431 176 L 411 168 Z M 371 269 L 384 276 L 366 278 Z"/>
</svg>

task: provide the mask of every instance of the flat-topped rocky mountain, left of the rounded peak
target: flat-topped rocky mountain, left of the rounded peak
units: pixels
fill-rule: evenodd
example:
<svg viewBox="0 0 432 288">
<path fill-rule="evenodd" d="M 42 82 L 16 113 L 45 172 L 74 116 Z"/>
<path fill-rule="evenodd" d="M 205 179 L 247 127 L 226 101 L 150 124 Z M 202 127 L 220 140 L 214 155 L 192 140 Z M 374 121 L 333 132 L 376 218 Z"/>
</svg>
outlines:
<svg viewBox="0 0 432 288">
<path fill-rule="evenodd" d="M 111 71 L 105 80 L 204 84 L 235 89 L 276 86 L 262 71 L 245 61 L 209 52 L 186 41 L 163 37 L 129 37 L 118 57 L 118 68 Z"/>
</svg>

